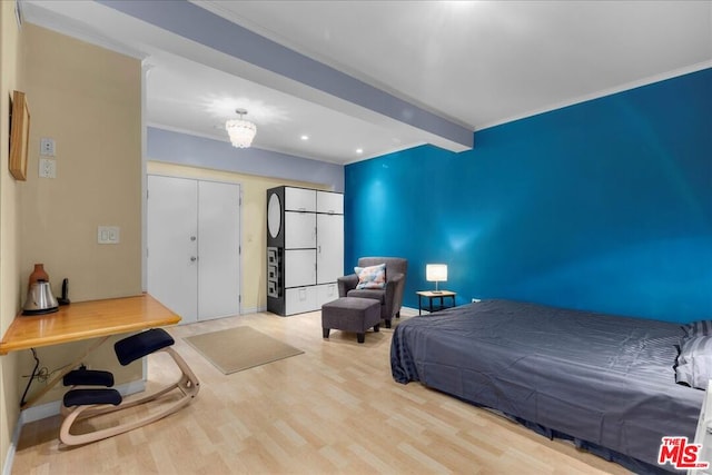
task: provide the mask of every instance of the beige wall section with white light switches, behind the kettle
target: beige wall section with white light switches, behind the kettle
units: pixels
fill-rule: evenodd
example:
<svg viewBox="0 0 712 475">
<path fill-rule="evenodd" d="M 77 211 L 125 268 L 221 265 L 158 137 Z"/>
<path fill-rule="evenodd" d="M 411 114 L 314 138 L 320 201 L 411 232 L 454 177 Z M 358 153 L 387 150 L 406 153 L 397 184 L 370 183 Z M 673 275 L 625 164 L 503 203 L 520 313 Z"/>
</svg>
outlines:
<svg viewBox="0 0 712 475">
<path fill-rule="evenodd" d="M 141 293 L 141 65 L 43 28 L 24 27 L 32 113 L 20 189 L 22 289 L 43 263 L 75 301 Z M 57 178 L 38 178 L 40 137 L 56 140 Z M 97 244 L 97 227 L 120 244 Z"/>
</svg>

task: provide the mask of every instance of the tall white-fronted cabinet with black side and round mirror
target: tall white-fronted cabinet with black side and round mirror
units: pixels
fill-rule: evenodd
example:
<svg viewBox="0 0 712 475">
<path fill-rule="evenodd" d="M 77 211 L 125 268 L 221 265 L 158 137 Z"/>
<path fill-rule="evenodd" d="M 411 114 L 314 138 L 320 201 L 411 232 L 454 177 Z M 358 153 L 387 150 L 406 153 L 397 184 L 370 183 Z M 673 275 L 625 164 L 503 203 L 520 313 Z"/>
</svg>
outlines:
<svg viewBox="0 0 712 475">
<path fill-rule="evenodd" d="M 344 275 L 344 196 L 307 188 L 267 190 L 267 309 L 314 311 L 338 298 Z"/>
</svg>

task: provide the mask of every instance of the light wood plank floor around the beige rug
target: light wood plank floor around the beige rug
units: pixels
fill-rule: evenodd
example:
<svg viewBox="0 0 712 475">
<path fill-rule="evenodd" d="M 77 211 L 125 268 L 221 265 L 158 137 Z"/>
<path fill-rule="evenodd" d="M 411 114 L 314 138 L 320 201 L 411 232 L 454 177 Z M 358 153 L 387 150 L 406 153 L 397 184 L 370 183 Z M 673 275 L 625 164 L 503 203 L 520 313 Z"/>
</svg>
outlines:
<svg viewBox="0 0 712 475">
<path fill-rule="evenodd" d="M 224 375 L 182 340 L 238 325 L 305 353 Z M 320 314 L 312 313 L 245 315 L 169 331 L 201 383 L 187 408 L 73 448 L 59 445 L 59 416 L 28 424 L 12 474 L 627 473 L 418 383 L 395 383 L 393 329 L 367 333 L 363 345 L 337 330 L 327 340 Z M 149 357 L 150 380 L 172 379 L 164 356 Z"/>
</svg>

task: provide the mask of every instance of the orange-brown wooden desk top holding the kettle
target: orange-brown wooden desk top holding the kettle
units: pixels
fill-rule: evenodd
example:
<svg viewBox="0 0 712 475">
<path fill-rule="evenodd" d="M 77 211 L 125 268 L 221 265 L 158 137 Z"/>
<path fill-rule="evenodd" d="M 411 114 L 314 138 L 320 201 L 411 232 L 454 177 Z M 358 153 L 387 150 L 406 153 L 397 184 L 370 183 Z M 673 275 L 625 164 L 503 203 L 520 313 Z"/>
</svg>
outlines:
<svg viewBox="0 0 712 475">
<path fill-rule="evenodd" d="M 180 317 L 148 294 L 80 301 L 46 315 L 18 315 L 0 340 L 0 355 L 146 328 L 175 325 Z"/>
</svg>

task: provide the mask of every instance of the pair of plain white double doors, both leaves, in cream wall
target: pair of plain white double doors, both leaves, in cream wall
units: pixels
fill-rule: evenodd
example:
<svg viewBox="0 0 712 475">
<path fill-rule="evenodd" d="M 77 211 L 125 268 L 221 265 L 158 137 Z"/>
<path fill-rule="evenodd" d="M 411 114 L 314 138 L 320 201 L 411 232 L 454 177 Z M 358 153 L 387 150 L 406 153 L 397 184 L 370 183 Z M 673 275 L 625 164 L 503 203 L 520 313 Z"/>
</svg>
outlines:
<svg viewBox="0 0 712 475">
<path fill-rule="evenodd" d="M 181 324 L 238 315 L 240 187 L 148 176 L 148 293 Z"/>
</svg>

